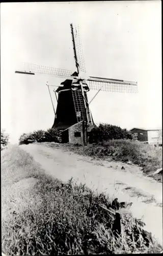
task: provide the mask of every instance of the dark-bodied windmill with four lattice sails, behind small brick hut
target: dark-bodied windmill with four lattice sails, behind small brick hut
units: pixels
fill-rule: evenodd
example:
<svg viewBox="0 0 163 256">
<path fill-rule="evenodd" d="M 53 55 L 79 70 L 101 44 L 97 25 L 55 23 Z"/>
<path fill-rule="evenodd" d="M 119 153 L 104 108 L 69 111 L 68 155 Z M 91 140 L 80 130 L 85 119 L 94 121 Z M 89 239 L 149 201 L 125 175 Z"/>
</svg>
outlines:
<svg viewBox="0 0 163 256">
<path fill-rule="evenodd" d="M 82 42 L 79 36 L 79 28 L 78 26 L 74 27 L 72 24 L 70 24 L 70 29 L 76 66 L 75 72 L 65 69 L 33 65 L 31 63 L 24 63 L 24 70 L 15 71 L 15 73 L 20 74 L 48 74 L 50 76 L 66 79 L 61 83 L 57 90 L 54 90 L 57 99 L 57 109 L 55 111 L 55 108 L 53 107 L 53 111 L 55 112 L 55 121 L 52 128 L 59 131 L 64 131 L 75 123 L 80 123 L 82 121 L 86 123 L 87 127 L 89 125 L 95 125 L 89 105 L 100 91 L 127 93 L 138 92 L 137 82 L 87 76 Z M 48 86 L 48 84 L 46 85 Z M 97 93 L 92 100 L 88 102 L 87 92 L 90 90 L 96 90 Z"/>
</svg>

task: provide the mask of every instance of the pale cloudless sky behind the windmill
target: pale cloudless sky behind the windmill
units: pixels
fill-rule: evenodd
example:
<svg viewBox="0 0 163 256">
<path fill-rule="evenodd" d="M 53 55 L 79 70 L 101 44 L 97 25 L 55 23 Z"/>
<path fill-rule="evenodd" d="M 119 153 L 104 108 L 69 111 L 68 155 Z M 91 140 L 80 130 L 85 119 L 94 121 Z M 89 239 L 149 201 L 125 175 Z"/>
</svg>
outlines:
<svg viewBox="0 0 163 256">
<path fill-rule="evenodd" d="M 23 61 L 74 72 L 70 23 L 79 25 L 88 75 L 138 82 L 137 94 L 100 92 L 90 104 L 95 123 L 160 129 L 161 1 L 1 3 L 1 129 L 10 142 L 52 126 L 46 82 L 64 79 L 14 72 Z"/>
</svg>

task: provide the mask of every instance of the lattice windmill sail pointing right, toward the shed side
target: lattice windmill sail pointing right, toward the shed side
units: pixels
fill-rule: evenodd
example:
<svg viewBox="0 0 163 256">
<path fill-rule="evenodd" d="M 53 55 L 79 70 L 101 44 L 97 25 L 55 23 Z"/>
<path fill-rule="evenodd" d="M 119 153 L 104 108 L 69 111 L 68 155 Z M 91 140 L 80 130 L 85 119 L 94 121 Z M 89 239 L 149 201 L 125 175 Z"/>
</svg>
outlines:
<svg viewBox="0 0 163 256">
<path fill-rule="evenodd" d="M 88 78 L 90 90 L 104 91 L 104 92 L 126 92 L 137 93 L 138 84 L 133 81 L 124 81 L 119 79 L 108 79 L 100 77 Z"/>
</svg>

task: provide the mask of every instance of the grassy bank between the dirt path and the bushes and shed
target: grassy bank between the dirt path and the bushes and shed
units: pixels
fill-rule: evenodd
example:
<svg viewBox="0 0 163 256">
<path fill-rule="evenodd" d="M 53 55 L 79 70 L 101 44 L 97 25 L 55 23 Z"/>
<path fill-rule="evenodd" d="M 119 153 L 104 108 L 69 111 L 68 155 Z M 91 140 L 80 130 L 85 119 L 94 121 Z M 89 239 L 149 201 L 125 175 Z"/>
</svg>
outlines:
<svg viewBox="0 0 163 256">
<path fill-rule="evenodd" d="M 128 162 L 142 167 L 144 174 L 152 176 L 158 168 L 162 167 L 162 148 L 151 147 L 139 141 L 110 140 L 103 144 L 88 144 L 87 146 L 46 143 L 50 147 L 63 147 L 74 153 L 97 157 L 100 159 Z M 154 179 L 162 181 L 162 174 L 153 176 Z"/>
</svg>

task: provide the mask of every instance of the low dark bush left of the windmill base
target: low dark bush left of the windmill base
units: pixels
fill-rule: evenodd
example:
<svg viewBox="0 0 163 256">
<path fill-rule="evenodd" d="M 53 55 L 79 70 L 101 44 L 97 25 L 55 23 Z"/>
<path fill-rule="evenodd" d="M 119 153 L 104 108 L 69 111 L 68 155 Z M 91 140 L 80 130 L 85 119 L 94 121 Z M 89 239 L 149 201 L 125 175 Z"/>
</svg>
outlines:
<svg viewBox="0 0 163 256">
<path fill-rule="evenodd" d="M 59 136 L 59 132 L 55 129 L 38 130 L 28 134 L 23 133 L 19 138 L 19 145 L 34 142 L 59 142 Z"/>
</svg>

